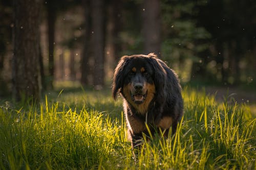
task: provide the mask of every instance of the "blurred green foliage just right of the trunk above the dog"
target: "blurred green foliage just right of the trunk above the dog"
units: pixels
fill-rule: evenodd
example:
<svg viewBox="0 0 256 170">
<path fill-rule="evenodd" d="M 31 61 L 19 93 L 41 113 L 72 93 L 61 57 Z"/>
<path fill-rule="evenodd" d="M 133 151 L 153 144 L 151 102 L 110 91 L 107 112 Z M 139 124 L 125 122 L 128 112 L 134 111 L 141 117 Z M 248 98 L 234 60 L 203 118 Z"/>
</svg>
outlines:
<svg viewBox="0 0 256 170">
<path fill-rule="evenodd" d="M 193 62 L 199 62 L 198 54 L 207 49 L 211 35 L 196 25 L 194 2 L 170 2 L 161 4 L 162 10 L 162 58 L 179 73 L 182 81 L 190 80 Z"/>
</svg>

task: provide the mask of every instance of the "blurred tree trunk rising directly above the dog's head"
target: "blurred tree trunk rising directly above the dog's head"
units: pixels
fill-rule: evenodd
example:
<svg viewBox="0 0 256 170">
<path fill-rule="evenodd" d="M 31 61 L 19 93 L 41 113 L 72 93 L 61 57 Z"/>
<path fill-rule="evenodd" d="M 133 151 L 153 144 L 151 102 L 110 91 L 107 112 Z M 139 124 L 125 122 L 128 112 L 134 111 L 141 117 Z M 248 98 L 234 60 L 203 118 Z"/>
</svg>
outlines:
<svg viewBox="0 0 256 170">
<path fill-rule="evenodd" d="M 160 1 L 144 0 L 142 5 L 144 53 L 155 53 L 160 57 Z"/>
</svg>

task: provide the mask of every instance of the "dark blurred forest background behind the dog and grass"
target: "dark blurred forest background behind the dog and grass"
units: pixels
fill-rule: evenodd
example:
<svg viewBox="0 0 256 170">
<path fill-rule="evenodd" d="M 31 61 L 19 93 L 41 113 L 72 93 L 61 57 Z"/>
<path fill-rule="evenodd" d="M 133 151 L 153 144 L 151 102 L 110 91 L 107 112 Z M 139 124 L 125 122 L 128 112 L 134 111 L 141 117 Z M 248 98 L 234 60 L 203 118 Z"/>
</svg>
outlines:
<svg viewBox="0 0 256 170">
<path fill-rule="evenodd" d="M 1 1 L 0 98 L 110 87 L 121 56 L 155 53 L 183 85 L 254 100 L 255 11 L 253 0 Z"/>
</svg>

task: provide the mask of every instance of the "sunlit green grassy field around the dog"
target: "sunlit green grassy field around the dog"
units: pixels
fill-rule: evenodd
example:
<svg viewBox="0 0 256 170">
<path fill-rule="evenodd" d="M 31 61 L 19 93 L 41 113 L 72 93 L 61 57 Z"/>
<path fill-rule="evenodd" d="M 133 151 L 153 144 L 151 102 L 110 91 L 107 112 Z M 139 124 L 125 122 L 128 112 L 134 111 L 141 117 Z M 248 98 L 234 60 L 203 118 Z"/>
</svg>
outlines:
<svg viewBox="0 0 256 170">
<path fill-rule="evenodd" d="M 39 105 L 0 107 L 0 169 L 256 169 L 255 114 L 184 88 L 175 136 L 127 142 L 122 100 L 110 89 L 59 90 Z"/>
</svg>

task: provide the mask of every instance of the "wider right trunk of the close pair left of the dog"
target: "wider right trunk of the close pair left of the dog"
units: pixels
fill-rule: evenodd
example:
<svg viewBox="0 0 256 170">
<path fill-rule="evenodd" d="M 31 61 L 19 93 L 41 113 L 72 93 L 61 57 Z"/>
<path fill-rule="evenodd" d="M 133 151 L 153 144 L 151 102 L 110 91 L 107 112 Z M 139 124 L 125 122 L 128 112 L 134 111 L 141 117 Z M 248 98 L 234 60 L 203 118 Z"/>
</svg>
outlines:
<svg viewBox="0 0 256 170">
<path fill-rule="evenodd" d="M 104 18 L 103 0 L 92 3 L 92 43 L 94 57 L 94 88 L 101 89 L 104 85 Z"/>
</svg>

